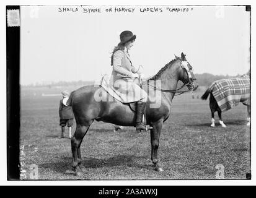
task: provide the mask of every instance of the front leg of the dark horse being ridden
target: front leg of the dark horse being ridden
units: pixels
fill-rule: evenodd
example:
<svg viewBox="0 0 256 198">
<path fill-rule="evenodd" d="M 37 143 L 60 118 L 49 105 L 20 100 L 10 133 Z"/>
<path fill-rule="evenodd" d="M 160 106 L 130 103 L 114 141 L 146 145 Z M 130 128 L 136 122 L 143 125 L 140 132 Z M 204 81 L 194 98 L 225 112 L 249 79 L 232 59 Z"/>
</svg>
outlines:
<svg viewBox="0 0 256 198">
<path fill-rule="evenodd" d="M 162 123 L 163 121 L 157 121 L 156 123 L 151 123 L 152 129 L 150 131 L 151 134 L 151 160 L 155 165 L 156 171 L 163 171 L 162 167 L 159 163 L 158 156 L 157 156 L 157 150 L 159 147 L 159 137 L 162 129 Z"/>
</svg>

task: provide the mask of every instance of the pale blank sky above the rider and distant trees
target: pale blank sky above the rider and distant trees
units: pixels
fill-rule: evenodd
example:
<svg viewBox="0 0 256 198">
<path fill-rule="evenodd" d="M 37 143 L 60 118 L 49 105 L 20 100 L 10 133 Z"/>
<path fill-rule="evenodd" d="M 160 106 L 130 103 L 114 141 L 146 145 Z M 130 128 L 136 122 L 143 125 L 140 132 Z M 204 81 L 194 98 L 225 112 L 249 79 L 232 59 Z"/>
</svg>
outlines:
<svg viewBox="0 0 256 198">
<path fill-rule="evenodd" d="M 182 52 L 197 74 L 249 71 L 250 12 L 243 6 L 82 6 L 60 12 L 76 7 L 21 6 L 20 84 L 99 80 L 111 74 L 110 53 L 123 30 L 137 36 L 130 55 L 146 76 Z M 105 12 L 109 7 L 112 12 Z M 115 7 L 134 10 L 115 12 Z M 141 12 L 147 7 L 159 10 Z M 89 8 L 101 12 L 82 12 Z"/>
</svg>

